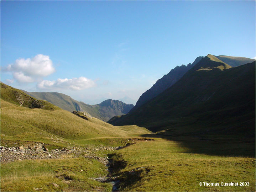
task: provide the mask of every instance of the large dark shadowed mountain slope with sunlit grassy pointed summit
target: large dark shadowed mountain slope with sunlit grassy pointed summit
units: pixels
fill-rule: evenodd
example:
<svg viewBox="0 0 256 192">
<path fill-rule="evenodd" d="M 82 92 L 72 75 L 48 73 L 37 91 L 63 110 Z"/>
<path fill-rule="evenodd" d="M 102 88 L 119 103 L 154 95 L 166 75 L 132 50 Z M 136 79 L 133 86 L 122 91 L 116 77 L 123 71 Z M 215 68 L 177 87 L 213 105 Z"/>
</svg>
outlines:
<svg viewBox="0 0 256 192">
<path fill-rule="evenodd" d="M 172 87 L 108 122 L 173 134 L 251 135 L 255 132 L 255 62 L 231 68 L 208 54 Z"/>
</svg>

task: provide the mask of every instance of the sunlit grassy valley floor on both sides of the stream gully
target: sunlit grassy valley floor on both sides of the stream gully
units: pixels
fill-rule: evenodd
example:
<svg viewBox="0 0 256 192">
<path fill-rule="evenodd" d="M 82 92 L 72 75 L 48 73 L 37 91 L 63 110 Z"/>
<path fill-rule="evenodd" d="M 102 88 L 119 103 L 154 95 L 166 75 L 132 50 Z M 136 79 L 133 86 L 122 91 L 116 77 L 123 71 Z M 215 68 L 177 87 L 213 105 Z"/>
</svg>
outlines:
<svg viewBox="0 0 256 192">
<path fill-rule="evenodd" d="M 120 181 L 118 191 L 255 191 L 254 157 L 194 153 L 182 142 L 162 138 L 80 143 L 67 153 L 50 150 L 53 159 L 1 161 L 1 191 L 112 191 L 111 181 Z M 126 143 L 135 144 L 116 150 Z M 1 159 L 5 153 L 1 151 Z M 95 180 L 99 177 L 108 182 Z"/>
</svg>

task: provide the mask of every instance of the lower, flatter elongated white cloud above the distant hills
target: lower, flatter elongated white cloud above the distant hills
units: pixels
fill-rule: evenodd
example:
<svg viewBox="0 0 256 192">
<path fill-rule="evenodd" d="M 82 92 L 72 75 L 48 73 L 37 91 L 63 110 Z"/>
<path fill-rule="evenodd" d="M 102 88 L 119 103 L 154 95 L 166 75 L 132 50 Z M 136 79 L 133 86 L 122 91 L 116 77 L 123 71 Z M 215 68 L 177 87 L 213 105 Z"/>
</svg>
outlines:
<svg viewBox="0 0 256 192">
<path fill-rule="evenodd" d="M 37 84 L 39 89 L 71 89 L 83 90 L 96 86 L 95 82 L 85 77 L 72 78 L 72 79 L 57 79 L 56 81 L 44 80 Z"/>
</svg>

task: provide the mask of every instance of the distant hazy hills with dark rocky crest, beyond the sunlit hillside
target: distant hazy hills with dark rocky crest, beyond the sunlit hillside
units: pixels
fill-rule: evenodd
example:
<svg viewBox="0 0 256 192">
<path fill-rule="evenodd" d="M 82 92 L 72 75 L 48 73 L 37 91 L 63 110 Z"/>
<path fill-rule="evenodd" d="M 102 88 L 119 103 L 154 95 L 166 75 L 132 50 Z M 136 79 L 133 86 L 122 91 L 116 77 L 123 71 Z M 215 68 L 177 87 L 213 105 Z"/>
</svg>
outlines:
<svg viewBox="0 0 256 192">
<path fill-rule="evenodd" d="M 102 121 L 108 121 L 116 115 L 126 114 L 134 107 L 134 105 L 128 105 L 121 101 L 111 99 L 103 101 L 97 105 L 88 105 L 58 92 L 24 92 L 32 97 L 51 102 L 54 105 L 70 112 L 86 111 L 93 117 Z"/>
</svg>

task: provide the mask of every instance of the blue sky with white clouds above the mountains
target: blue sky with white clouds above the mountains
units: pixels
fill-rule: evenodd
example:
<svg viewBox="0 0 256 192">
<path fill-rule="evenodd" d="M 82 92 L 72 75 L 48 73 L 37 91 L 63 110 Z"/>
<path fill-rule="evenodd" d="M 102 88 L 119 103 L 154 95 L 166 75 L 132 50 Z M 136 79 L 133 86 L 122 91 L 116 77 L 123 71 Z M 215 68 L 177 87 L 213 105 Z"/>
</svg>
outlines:
<svg viewBox="0 0 256 192">
<path fill-rule="evenodd" d="M 255 1 L 1 1 L 1 81 L 96 104 L 208 53 L 255 57 Z"/>
</svg>

